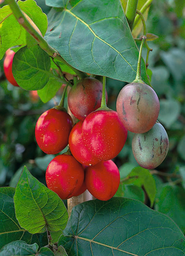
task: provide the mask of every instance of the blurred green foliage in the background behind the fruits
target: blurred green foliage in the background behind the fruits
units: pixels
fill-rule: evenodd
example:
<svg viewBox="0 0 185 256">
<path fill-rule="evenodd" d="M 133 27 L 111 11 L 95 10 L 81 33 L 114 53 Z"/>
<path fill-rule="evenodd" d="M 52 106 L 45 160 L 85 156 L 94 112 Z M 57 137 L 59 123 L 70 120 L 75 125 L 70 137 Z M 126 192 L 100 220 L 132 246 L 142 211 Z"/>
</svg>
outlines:
<svg viewBox="0 0 185 256">
<path fill-rule="evenodd" d="M 46 14 L 49 12 L 44 1 L 36 2 Z M 185 1 L 154 0 L 147 32 L 158 36 L 148 43 L 153 49 L 149 69 L 160 100 L 158 120 L 168 133 L 170 148 L 164 162 L 156 170 L 147 171 L 134 159 L 133 134 L 129 132 L 126 145 L 114 159 L 121 174 L 116 196 L 141 200 L 170 216 L 185 233 Z M 110 108 L 115 110 L 116 98 L 125 84 L 107 78 Z M 24 165 L 46 185 L 46 167 L 54 156 L 39 149 L 34 128 L 39 115 L 57 105 L 61 95 L 62 89 L 44 104 L 36 92 L 9 84 L 0 61 L 0 186 L 15 187 Z"/>
</svg>

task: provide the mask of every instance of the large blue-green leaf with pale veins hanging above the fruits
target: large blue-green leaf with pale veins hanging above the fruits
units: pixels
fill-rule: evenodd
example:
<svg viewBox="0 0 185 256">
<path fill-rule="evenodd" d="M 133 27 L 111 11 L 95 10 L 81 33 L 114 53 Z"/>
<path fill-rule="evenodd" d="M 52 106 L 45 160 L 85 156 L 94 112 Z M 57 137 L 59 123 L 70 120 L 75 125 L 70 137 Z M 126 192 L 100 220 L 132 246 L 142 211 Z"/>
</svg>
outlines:
<svg viewBox="0 0 185 256">
<path fill-rule="evenodd" d="M 45 39 L 67 63 L 86 73 L 135 79 L 139 52 L 120 0 L 59 0 L 57 6 L 48 13 Z M 143 59 L 141 71 L 148 83 Z"/>
</svg>

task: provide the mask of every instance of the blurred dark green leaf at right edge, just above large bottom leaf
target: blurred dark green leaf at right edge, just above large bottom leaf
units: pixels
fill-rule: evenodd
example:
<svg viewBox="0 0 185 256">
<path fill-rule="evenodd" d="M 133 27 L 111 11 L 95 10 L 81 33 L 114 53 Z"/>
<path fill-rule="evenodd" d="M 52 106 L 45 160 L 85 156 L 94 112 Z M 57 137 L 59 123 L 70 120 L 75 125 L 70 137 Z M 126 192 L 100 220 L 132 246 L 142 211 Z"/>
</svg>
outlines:
<svg viewBox="0 0 185 256">
<path fill-rule="evenodd" d="M 185 233 L 185 190 L 181 186 L 163 185 L 155 209 L 172 218 Z"/>
</svg>

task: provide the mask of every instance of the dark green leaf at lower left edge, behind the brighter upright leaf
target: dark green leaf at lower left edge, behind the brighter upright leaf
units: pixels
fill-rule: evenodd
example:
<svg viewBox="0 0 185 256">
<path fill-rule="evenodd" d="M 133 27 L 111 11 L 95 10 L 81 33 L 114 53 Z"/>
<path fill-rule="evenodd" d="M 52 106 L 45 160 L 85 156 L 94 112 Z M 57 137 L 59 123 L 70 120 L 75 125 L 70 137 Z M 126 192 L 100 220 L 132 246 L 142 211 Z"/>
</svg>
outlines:
<svg viewBox="0 0 185 256">
<path fill-rule="evenodd" d="M 14 193 L 15 188 L 0 188 L 0 248 L 19 239 L 28 244 L 36 242 L 39 246 L 45 246 L 48 242 L 46 233 L 32 235 L 19 226 L 15 218 Z"/>
</svg>

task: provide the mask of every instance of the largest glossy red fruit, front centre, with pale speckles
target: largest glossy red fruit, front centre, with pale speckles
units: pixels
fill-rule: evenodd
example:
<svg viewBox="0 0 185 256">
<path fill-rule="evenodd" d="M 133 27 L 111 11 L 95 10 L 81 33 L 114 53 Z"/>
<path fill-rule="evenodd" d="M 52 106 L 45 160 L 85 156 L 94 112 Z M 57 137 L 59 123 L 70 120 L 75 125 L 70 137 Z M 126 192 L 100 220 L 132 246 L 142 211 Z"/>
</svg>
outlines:
<svg viewBox="0 0 185 256">
<path fill-rule="evenodd" d="M 84 120 L 82 138 L 96 158 L 106 161 L 120 153 L 127 139 L 127 130 L 116 111 L 97 110 Z"/>
</svg>

